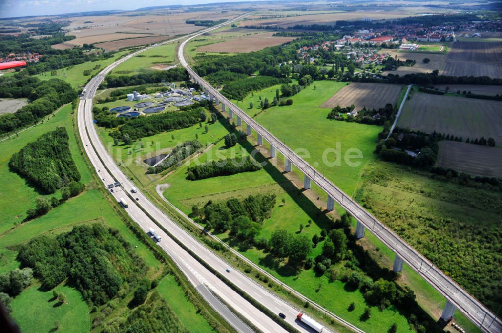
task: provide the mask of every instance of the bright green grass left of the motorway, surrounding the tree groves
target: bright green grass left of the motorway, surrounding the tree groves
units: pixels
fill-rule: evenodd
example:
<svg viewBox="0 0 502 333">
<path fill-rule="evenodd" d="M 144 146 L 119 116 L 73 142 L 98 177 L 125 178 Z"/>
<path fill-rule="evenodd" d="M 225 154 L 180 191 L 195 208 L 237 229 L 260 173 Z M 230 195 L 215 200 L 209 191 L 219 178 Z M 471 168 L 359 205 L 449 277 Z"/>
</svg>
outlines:
<svg viewBox="0 0 502 333">
<path fill-rule="evenodd" d="M 92 177 L 86 162 L 77 146 L 73 135 L 74 116 L 71 105 L 65 106 L 58 114 L 44 124 L 23 132 L 16 139 L 0 145 L 0 179 L 2 179 L 2 192 L 0 194 L 0 209 L 4 217 L 0 224 L 0 271 L 8 271 L 19 267 L 16 260 L 19 246 L 40 234 L 56 235 L 71 230 L 75 225 L 88 223 L 104 223 L 107 227 L 118 229 L 120 234 L 133 246 L 135 251 L 148 264 L 149 270 L 146 278 L 153 279 L 164 270 L 163 264 L 142 243 L 131 230 L 117 216 L 115 206 L 111 206 L 107 198 L 97 189 L 97 183 Z M 48 214 L 35 220 L 22 223 L 14 228 L 14 222 L 25 217 L 27 208 L 35 205 L 35 198 L 39 193 L 17 174 L 8 168 L 10 156 L 19 151 L 27 143 L 34 141 L 43 133 L 54 130 L 57 126 L 66 127 L 70 136 L 70 151 L 82 176 L 81 182 L 86 185 L 86 190 L 75 198 L 71 198 L 61 206 L 52 209 Z M 57 193 L 56 195 L 60 195 Z M 165 278 L 172 278 L 168 275 Z M 68 332 L 89 332 L 90 319 L 88 305 L 82 300 L 80 293 L 69 286 L 58 286 L 56 289 L 63 291 L 67 296 L 68 304 L 55 306 L 57 302 L 52 299 L 52 291 L 39 288 L 40 283 L 35 281 L 32 286 L 13 299 L 12 316 L 18 322 L 22 331 L 49 331 L 54 328 L 55 321 L 60 324 L 60 330 Z M 197 331 L 211 331 L 207 321 L 196 314 L 193 304 L 188 302 L 181 287 L 172 285 L 168 292 L 160 291 L 172 309 L 179 314 L 185 322 L 190 322 L 190 327 L 197 327 Z M 172 301 L 172 304 L 171 304 Z M 191 307 L 190 307 L 191 305 Z M 126 307 L 127 303 L 120 303 Z M 118 308 L 118 309 L 119 309 Z M 193 315 L 192 315 L 193 314 Z"/>
</svg>

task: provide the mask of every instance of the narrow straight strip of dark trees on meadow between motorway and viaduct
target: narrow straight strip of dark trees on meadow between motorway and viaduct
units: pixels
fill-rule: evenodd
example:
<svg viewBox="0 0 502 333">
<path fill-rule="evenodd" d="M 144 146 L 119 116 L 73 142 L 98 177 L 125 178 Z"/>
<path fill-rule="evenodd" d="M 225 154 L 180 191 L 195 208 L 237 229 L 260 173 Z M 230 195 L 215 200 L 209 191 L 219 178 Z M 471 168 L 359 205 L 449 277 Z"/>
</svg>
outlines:
<svg viewBox="0 0 502 333">
<path fill-rule="evenodd" d="M 241 159 L 224 159 L 207 162 L 202 165 L 188 167 L 187 179 L 199 180 L 218 176 L 234 175 L 241 172 L 252 172 L 261 170 L 262 166 L 249 156 L 242 156 Z"/>
</svg>

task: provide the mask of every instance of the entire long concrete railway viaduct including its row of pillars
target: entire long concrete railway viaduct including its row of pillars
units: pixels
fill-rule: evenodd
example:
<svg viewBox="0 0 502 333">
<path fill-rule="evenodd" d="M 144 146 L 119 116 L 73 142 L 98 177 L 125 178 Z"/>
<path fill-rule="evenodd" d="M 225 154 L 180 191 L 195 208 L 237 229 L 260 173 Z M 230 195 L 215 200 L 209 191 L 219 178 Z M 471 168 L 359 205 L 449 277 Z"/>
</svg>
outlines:
<svg viewBox="0 0 502 333">
<path fill-rule="evenodd" d="M 252 134 L 252 131 L 255 131 L 257 134 L 258 146 L 263 145 L 264 140 L 266 140 L 270 144 L 271 158 L 277 157 L 278 152 L 281 153 L 285 158 L 286 172 L 292 171 L 293 165 L 302 171 L 304 174 L 305 189 L 311 188 L 311 184 L 314 182 L 319 188 L 326 192 L 328 195 L 326 204 L 328 211 L 334 209 L 336 202 L 350 213 L 357 220 L 355 231 L 357 239 L 362 238 L 366 229 L 369 229 L 370 232 L 388 246 L 396 254 L 393 266 L 394 272 L 401 272 L 403 270 L 403 264 L 406 262 L 438 290 L 446 298 L 446 304 L 441 314 L 441 319 L 445 321 L 450 320 L 455 310 L 458 309 L 482 331 L 489 333 L 502 332 L 502 321 L 500 318 L 486 308 L 480 301 L 463 290 L 455 281 L 443 273 L 439 268 L 435 267 L 434 264 L 427 260 L 422 254 L 408 245 L 392 230 L 376 219 L 376 217 L 367 212 L 352 198 L 314 169 L 309 163 L 304 161 L 292 149 L 279 141 L 269 131 L 197 75 L 197 73 L 190 68 L 183 55 L 186 43 L 197 36 L 198 35 L 195 35 L 182 43 L 178 50 L 178 57 L 181 64 L 188 71 L 190 79 L 204 89 L 209 101 L 212 101 L 215 106 L 220 106 L 221 112 L 226 112 L 228 118 L 233 120 L 237 126 L 242 126 L 242 123 L 245 123 L 246 134 L 248 136 Z"/>
</svg>

